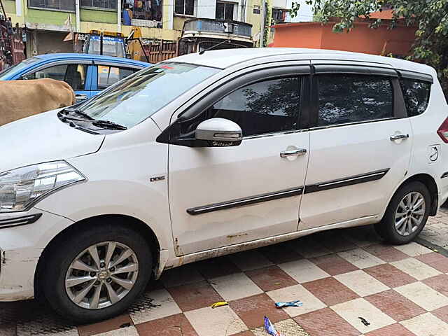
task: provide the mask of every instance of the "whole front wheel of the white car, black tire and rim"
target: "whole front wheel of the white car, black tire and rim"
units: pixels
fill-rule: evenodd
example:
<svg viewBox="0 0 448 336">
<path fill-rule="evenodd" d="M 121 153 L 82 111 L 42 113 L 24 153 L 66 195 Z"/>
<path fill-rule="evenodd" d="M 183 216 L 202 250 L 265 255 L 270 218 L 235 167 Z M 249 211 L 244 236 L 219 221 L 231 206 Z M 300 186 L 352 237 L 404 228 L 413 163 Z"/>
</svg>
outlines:
<svg viewBox="0 0 448 336">
<path fill-rule="evenodd" d="M 45 298 L 52 309 L 76 323 L 123 313 L 143 293 L 153 269 L 151 248 L 139 233 L 125 225 L 94 224 L 59 241 L 45 260 Z M 97 256 L 92 256 L 95 250 Z M 84 282 L 76 284 L 79 281 Z"/>
</svg>

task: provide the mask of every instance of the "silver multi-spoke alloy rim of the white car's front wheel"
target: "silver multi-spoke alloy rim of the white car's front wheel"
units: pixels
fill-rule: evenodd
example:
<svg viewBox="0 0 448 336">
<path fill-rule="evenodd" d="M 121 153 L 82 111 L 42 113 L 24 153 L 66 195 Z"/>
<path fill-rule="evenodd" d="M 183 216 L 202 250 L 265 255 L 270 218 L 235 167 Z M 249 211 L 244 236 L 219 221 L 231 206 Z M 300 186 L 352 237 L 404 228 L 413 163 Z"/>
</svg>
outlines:
<svg viewBox="0 0 448 336">
<path fill-rule="evenodd" d="M 79 307 L 102 309 L 130 293 L 138 273 L 139 261 L 129 246 L 104 241 L 86 248 L 71 262 L 66 293 Z"/>
</svg>

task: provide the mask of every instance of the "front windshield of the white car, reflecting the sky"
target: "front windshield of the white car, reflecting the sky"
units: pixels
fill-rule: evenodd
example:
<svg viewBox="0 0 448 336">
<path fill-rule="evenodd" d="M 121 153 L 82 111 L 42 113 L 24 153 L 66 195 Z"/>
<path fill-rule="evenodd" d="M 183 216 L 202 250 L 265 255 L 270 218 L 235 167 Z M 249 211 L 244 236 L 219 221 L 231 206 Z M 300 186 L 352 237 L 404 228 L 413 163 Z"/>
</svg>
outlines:
<svg viewBox="0 0 448 336">
<path fill-rule="evenodd" d="M 218 71 L 208 66 L 163 62 L 120 80 L 77 110 L 90 118 L 130 128 Z"/>
</svg>

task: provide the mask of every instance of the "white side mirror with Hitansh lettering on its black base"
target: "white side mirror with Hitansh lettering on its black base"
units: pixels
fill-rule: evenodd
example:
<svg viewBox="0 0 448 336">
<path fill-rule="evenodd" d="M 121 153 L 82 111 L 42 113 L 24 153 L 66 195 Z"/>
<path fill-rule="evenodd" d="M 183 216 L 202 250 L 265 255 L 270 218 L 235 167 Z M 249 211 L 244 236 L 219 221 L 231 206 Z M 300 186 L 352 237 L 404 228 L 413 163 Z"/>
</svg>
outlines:
<svg viewBox="0 0 448 336">
<path fill-rule="evenodd" d="M 210 147 L 238 146 L 243 139 L 243 131 L 232 120 L 211 118 L 197 125 L 195 139 L 207 141 Z"/>
</svg>

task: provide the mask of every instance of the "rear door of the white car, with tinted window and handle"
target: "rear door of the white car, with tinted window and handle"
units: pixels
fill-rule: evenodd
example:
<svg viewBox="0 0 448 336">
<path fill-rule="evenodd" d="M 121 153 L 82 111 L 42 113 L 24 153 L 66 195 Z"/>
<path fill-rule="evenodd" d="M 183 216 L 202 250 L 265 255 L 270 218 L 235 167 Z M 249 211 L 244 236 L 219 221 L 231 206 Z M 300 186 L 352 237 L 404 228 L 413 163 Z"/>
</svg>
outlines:
<svg viewBox="0 0 448 336">
<path fill-rule="evenodd" d="M 299 230 L 371 222 L 407 174 L 412 148 L 397 73 L 318 62 L 314 69 Z"/>
</svg>

